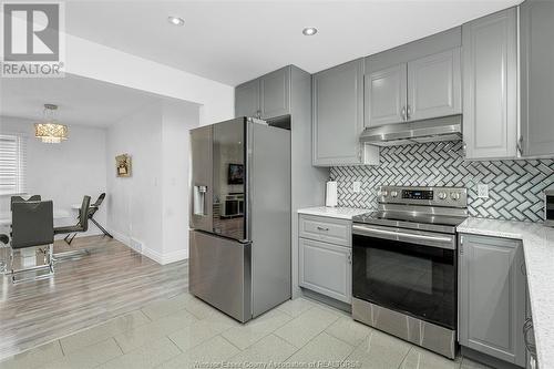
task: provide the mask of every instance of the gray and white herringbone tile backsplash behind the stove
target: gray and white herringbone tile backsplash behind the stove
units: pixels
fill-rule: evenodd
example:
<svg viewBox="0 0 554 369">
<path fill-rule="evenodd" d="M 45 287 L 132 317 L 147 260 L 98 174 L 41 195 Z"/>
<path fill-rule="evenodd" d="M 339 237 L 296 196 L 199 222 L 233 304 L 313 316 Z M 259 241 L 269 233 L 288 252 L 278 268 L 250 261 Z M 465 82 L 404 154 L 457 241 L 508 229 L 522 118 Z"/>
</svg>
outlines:
<svg viewBox="0 0 554 369">
<path fill-rule="evenodd" d="M 469 162 L 461 142 L 381 148 L 379 166 L 336 166 L 338 205 L 373 208 L 380 185 L 463 186 L 471 216 L 543 219 L 543 189 L 554 183 L 554 160 Z M 352 193 L 352 182 L 361 192 Z M 489 198 L 478 198 L 476 184 L 489 185 Z"/>
</svg>

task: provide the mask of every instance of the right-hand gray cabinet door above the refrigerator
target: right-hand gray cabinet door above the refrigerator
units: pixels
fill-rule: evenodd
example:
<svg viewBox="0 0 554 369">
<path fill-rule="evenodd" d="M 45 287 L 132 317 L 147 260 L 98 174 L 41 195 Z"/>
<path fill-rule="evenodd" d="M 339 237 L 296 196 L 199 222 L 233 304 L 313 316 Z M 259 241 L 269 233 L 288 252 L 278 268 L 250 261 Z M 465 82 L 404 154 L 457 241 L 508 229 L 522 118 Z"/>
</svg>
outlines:
<svg viewBox="0 0 554 369">
<path fill-rule="evenodd" d="M 271 119 L 290 112 L 290 70 L 281 68 L 259 79 L 260 114 Z"/>
</svg>

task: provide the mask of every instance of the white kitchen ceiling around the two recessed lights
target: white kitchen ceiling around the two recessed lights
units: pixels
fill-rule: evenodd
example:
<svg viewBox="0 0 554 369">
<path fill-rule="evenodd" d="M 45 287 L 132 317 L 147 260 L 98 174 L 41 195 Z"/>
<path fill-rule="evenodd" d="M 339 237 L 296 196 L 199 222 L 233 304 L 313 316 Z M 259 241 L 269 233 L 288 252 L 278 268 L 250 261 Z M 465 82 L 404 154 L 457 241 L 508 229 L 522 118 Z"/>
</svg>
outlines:
<svg viewBox="0 0 554 369">
<path fill-rule="evenodd" d="M 66 1 L 69 33 L 236 85 L 296 64 L 314 73 L 522 0 Z M 171 25 L 182 17 L 184 27 Z M 305 37 L 305 27 L 319 32 Z"/>
</svg>

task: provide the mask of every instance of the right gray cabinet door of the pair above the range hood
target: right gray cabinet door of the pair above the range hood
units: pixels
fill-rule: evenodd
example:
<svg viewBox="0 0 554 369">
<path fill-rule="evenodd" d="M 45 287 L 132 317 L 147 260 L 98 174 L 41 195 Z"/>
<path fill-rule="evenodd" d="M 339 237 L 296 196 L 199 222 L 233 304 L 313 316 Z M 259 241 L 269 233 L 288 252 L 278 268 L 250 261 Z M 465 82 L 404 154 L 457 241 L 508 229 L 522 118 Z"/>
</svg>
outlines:
<svg viewBox="0 0 554 369">
<path fill-rule="evenodd" d="M 408 63 L 408 120 L 462 113 L 460 58 L 456 48 Z"/>
</svg>

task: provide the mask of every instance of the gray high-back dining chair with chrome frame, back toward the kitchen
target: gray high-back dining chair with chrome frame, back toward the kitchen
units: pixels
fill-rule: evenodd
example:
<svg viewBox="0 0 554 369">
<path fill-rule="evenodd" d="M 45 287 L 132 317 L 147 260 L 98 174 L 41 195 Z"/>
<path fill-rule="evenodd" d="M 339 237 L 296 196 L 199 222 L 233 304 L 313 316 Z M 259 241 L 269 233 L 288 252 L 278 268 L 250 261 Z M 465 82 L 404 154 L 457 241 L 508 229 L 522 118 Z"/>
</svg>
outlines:
<svg viewBox="0 0 554 369">
<path fill-rule="evenodd" d="M 53 244 L 54 244 L 54 217 L 51 201 L 47 202 L 14 202 L 12 204 L 11 242 L 10 242 L 10 267 L 12 283 L 37 280 L 49 278 L 54 274 Z M 44 264 L 14 268 L 14 254 L 29 247 L 40 247 L 39 252 L 44 256 Z M 40 271 L 48 269 L 48 274 L 33 276 L 17 280 L 16 276 L 27 271 Z"/>
</svg>

